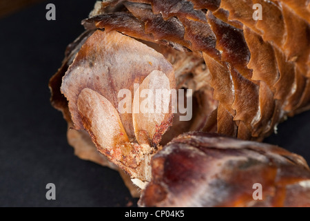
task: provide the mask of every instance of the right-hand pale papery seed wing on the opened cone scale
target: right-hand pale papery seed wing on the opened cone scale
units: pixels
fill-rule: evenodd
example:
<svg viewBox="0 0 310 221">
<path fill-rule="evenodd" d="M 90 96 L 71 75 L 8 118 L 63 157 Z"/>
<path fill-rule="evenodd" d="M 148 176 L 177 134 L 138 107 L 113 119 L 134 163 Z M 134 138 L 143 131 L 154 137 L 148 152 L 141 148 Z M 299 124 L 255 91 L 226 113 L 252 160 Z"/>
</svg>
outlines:
<svg viewBox="0 0 310 221">
<path fill-rule="evenodd" d="M 143 94 L 143 90 L 147 90 L 147 95 Z M 161 93 L 157 93 L 158 91 Z M 141 100 L 141 95 L 147 98 Z M 171 109 L 169 79 L 163 72 L 153 70 L 134 93 L 132 119 L 139 144 L 158 145 L 172 122 L 169 108 Z"/>
</svg>

